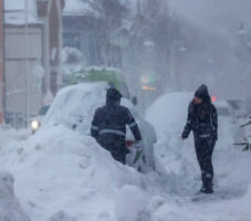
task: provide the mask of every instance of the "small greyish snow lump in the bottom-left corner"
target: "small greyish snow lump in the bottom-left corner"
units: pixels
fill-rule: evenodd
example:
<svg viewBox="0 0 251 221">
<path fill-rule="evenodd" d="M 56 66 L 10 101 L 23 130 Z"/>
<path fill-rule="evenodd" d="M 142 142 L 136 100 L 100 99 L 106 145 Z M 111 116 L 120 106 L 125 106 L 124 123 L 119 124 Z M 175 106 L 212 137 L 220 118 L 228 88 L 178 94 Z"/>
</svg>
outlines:
<svg viewBox="0 0 251 221">
<path fill-rule="evenodd" d="M 9 172 L 0 171 L 0 220 L 30 221 L 14 194 L 14 179 Z"/>
</svg>

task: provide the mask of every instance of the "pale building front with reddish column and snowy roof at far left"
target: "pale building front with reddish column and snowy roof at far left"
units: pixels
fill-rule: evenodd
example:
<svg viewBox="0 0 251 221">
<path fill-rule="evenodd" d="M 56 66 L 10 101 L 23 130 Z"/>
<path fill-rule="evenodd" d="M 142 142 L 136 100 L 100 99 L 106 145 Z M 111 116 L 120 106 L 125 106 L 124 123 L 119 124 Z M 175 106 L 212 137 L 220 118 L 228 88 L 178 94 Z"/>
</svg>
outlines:
<svg viewBox="0 0 251 221">
<path fill-rule="evenodd" d="M 62 85 L 64 0 L 4 3 L 6 122 L 23 126 Z"/>
</svg>

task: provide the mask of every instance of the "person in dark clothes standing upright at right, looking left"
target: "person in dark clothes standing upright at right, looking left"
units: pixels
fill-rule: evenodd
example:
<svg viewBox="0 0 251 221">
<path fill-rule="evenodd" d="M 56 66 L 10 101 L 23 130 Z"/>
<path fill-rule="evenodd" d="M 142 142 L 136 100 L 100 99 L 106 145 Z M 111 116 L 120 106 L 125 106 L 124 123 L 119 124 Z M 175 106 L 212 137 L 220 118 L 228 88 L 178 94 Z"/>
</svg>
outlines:
<svg viewBox="0 0 251 221">
<path fill-rule="evenodd" d="M 212 151 L 218 139 L 217 109 L 206 85 L 201 85 L 195 93 L 195 98 L 188 108 L 188 118 L 181 135 L 186 139 L 194 131 L 196 154 L 201 169 L 202 187 L 200 192 L 212 193 Z"/>
</svg>

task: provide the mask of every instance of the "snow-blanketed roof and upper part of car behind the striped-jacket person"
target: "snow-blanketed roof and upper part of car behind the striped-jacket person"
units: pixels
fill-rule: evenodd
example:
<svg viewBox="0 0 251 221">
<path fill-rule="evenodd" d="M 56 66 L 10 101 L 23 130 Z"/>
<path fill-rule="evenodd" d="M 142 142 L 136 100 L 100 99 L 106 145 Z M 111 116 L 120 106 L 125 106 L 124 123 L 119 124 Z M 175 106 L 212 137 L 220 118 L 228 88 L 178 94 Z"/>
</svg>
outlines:
<svg viewBox="0 0 251 221">
<path fill-rule="evenodd" d="M 109 86 L 106 82 L 82 83 L 62 88 L 46 113 L 41 128 L 63 124 L 90 134 L 96 108 L 105 105 L 107 88 Z M 129 99 L 122 98 L 122 105 L 129 108 L 135 118 L 139 117 Z"/>
</svg>

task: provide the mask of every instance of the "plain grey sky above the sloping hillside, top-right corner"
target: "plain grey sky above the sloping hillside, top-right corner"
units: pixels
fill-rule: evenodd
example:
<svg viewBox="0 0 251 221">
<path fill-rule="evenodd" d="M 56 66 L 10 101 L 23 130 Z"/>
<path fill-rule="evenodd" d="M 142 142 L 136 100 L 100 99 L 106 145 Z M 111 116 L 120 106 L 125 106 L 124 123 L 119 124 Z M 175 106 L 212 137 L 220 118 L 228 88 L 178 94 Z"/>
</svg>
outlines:
<svg viewBox="0 0 251 221">
<path fill-rule="evenodd" d="M 241 21 L 251 27 L 251 0 L 168 0 L 172 12 L 197 27 L 229 39 Z M 234 36 L 236 38 L 236 36 Z"/>
</svg>

